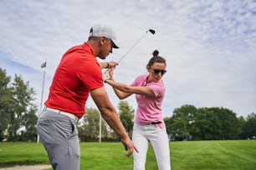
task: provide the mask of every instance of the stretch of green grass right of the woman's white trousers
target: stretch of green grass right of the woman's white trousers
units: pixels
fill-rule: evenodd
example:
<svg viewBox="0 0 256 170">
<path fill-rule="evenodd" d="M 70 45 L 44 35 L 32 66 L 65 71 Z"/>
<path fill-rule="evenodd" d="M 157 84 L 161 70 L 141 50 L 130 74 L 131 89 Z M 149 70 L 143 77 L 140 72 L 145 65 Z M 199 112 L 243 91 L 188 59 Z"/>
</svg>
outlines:
<svg viewBox="0 0 256 170">
<path fill-rule="evenodd" d="M 256 169 L 256 141 L 172 143 L 171 155 L 173 169 Z"/>
</svg>

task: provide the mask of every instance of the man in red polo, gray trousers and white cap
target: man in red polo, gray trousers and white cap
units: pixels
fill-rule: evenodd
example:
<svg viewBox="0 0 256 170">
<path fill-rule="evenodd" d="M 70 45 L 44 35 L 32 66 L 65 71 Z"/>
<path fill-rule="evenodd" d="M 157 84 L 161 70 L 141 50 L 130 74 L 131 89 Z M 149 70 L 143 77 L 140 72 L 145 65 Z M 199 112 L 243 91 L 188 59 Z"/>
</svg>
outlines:
<svg viewBox="0 0 256 170">
<path fill-rule="evenodd" d="M 38 134 L 54 170 L 79 169 L 79 137 L 75 122 L 83 117 L 89 94 L 110 128 L 120 135 L 128 150 L 125 156 L 129 157 L 134 150 L 137 152 L 102 80 L 100 68 L 115 67 L 117 63 L 96 60 L 96 57 L 105 59 L 112 47 L 118 48 L 114 41 L 112 28 L 97 24 L 90 28 L 87 42 L 64 53 L 56 69 L 44 112 L 38 118 Z"/>
</svg>

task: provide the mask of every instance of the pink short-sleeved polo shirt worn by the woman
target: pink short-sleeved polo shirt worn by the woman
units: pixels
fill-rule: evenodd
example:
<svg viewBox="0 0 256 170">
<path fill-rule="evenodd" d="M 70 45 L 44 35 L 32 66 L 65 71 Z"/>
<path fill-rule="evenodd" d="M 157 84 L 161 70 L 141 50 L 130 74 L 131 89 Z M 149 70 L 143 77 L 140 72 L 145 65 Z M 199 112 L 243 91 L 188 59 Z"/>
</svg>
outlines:
<svg viewBox="0 0 256 170">
<path fill-rule="evenodd" d="M 137 110 L 135 122 L 138 124 L 147 124 L 150 122 L 161 122 L 156 124 L 161 128 L 165 127 L 161 112 L 161 103 L 164 99 L 166 87 L 162 80 L 158 82 L 146 83 L 148 75 L 141 75 L 136 77 L 132 86 L 148 86 L 156 97 L 146 97 L 145 95 L 136 94 Z"/>
</svg>

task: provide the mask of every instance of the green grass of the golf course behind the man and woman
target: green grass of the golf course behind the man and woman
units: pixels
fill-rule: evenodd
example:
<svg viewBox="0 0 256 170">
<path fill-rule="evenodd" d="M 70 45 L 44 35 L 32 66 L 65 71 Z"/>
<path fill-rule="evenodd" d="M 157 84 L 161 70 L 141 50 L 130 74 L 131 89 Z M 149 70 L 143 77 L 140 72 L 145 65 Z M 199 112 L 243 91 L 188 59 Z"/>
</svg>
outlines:
<svg viewBox="0 0 256 170">
<path fill-rule="evenodd" d="M 80 143 L 81 170 L 132 169 L 121 143 Z M 256 169 L 256 141 L 197 141 L 170 143 L 172 170 Z M 14 165 L 49 164 L 41 143 L 0 143 L 0 168 Z M 147 170 L 157 169 L 149 148 Z"/>
</svg>

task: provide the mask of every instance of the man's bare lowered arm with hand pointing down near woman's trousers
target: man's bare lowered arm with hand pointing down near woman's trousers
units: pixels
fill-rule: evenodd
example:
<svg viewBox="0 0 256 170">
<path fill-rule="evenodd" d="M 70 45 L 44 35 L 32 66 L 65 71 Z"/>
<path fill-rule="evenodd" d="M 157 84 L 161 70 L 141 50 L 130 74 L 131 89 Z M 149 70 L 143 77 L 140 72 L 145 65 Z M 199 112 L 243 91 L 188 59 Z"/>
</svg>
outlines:
<svg viewBox="0 0 256 170">
<path fill-rule="evenodd" d="M 125 145 L 125 149 L 128 149 L 128 153 L 125 155 L 129 157 L 131 153 L 137 149 L 131 142 L 131 138 L 129 138 L 128 133 L 126 133 L 123 124 L 120 122 L 120 117 L 118 116 L 115 107 L 110 102 L 110 99 L 105 91 L 105 87 L 95 88 L 90 91 L 90 96 L 95 101 L 95 104 L 100 110 L 101 116 L 105 119 L 105 121 L 110 125 L 115 133 L 120 135 L 122 139 L 122 143 Z"/>
</svg>

